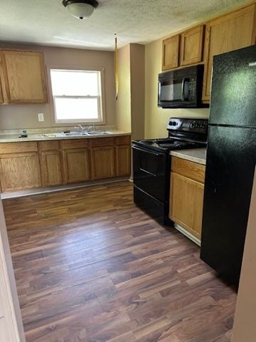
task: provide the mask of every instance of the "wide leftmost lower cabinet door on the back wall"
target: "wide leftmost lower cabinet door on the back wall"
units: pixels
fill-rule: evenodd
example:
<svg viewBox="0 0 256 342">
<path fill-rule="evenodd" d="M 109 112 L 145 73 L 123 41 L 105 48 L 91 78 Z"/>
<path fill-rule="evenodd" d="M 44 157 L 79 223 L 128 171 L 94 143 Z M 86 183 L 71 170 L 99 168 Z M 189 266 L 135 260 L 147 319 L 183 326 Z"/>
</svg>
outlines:
<svg viewBox="0 0 256 342">
<path fill-rule="evenodd" d="M 37 152 L 0 156 L 2 191 L 41 187 L 41 173 Z"/>
</svg>

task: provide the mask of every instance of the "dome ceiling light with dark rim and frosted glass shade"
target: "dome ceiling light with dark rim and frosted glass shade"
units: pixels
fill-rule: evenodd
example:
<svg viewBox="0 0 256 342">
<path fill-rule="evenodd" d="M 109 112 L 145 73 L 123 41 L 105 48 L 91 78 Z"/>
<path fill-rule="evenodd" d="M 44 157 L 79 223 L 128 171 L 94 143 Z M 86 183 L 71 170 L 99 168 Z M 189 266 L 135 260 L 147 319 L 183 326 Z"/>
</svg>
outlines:
<svg viewBox="0 0 256 342">
<path fill-rule="evenodd" d="M 75 18 L 85 19 L 92 15 L 94 9 L 99 6 L 99 3 L 96 0 L 63 0 L 63 6 Z"/>
</svg>

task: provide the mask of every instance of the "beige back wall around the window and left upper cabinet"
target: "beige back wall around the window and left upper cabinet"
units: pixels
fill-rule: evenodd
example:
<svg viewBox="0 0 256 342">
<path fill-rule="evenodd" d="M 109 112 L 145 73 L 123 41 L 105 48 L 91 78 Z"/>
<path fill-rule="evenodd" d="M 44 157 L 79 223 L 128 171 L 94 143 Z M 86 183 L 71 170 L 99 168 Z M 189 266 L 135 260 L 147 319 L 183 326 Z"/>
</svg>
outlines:
<svg viewBox="0 0 256 342">
<path fill-rule="evenodd" d="M 82 50 L 0 43 L 0 48 L 43 51 L 47 68 L 104 68 L 106 125 L 116 125 L 114 99 L 114 53 L 112 51 Z M 48 83 L 50 82 L 48 78 Z M 48 87 L 49 88 L 49 87 Z M 53 119 L 53 104 L 0 105 L 0 130 L 57 127 Z M 38 122 L 38 113 L 44 122 Z"/>
</svg>

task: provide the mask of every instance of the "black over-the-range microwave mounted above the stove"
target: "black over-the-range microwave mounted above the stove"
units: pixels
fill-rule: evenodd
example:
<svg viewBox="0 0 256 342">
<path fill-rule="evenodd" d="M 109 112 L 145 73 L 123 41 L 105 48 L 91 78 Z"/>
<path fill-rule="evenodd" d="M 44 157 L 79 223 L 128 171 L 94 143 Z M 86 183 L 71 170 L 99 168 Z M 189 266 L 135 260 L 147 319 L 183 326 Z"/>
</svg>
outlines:
<svg viewBox="0 0 256 342">
<path fill-rule="evenodd" d="M 162 108 L 203 108 L 203 64 L 159 74 L 158 105 Z"/>
</svg>

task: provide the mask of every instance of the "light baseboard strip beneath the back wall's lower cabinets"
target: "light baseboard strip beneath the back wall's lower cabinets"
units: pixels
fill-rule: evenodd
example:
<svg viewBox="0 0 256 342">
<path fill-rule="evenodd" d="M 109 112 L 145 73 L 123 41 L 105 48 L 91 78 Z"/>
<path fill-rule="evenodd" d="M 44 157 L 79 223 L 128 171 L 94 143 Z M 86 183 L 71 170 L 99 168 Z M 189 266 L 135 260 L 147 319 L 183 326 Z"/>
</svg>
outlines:
<svg viewBox="0 0 256 342">
<path fill-rule="evenodd" d="M 80 187 L 92 187 L 92 185 L 103 185 L 103 184 L 117 183 L 117 182 L 124 182 L 124 181 L 129 181 L 129 178 L 128 177 L 112 178 L 111 180 L 102 180 L 102 181 L 77 183 L 77 184 L 69 184 L 69 185 L 59 185 L 56 187 L 40 187 L 38 189 L 29 189 L 29 190 L 12 191 L 12 192 L 2 192 L 1 199 L 40 195 L 40 194 L 46 194 L 48 192 L 58 192 L 62 190 L 79 189 Z"/>
</svg>

